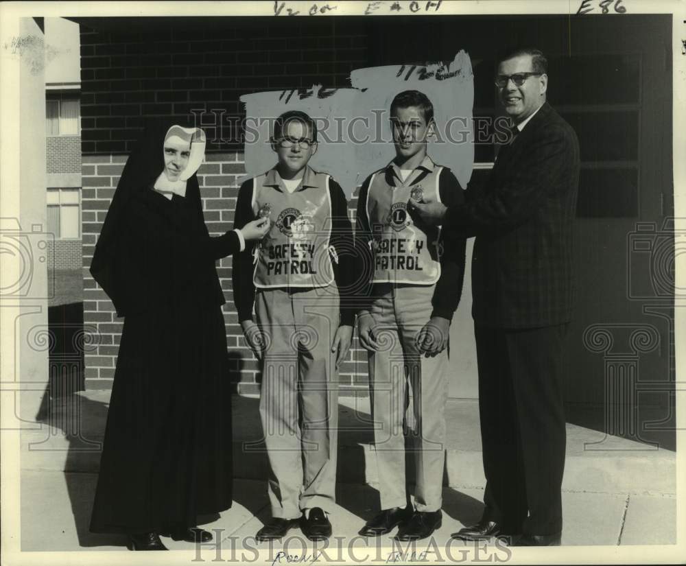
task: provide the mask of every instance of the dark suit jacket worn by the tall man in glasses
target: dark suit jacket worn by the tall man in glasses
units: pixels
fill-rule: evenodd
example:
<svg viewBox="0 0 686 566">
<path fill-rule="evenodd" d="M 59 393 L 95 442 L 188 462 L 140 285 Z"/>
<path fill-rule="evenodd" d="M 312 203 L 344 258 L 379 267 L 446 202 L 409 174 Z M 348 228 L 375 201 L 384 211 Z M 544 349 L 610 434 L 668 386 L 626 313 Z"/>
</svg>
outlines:
<svg viewBox="0 0 686 566">
<path fill-rule="evenodd" d="M 444 229 L 476 236 L 477 324 L 516 329 L 569 322 L 578 181 L 576 133 L 545 103 L 501 148 L 485 186 L 449 207 Z"/>
</svg>

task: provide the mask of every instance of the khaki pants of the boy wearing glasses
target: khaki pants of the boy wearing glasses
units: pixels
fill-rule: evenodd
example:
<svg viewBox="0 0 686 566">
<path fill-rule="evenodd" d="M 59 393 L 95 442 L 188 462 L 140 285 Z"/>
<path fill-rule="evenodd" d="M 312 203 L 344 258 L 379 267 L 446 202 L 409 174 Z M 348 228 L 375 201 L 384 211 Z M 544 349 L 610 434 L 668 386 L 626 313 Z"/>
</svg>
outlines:
<svg viewBox="0 0 686 566">
<path fill-rule="evenodd" d="M 265 333 L 259 412 L 270 464 L 272 516 L 335 505 L 339 325 L 335 285 L 304 292 L 259 290 L 257 324 Z"/>
</svg>

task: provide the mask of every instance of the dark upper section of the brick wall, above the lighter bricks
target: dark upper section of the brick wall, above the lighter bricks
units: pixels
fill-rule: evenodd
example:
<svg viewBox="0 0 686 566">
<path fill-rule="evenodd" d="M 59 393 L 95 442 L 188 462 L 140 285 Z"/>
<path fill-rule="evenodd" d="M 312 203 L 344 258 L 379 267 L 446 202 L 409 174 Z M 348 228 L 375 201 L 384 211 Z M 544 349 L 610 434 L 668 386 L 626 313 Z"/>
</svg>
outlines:
<svg viewBox="0 0 686 566">
<path fill-rule="evenodd" d="M 238 18 L 197 28 L 189 19 L 157 20 L 145 32 L 82 25 L 84 154 L 130 151 L 145 116 L 190 117 L 203 108 L 241 115 L 241 95 L 316 83 L 349 86 L 351 70 L 367 62 L 359 20 Z"/>
</svg>

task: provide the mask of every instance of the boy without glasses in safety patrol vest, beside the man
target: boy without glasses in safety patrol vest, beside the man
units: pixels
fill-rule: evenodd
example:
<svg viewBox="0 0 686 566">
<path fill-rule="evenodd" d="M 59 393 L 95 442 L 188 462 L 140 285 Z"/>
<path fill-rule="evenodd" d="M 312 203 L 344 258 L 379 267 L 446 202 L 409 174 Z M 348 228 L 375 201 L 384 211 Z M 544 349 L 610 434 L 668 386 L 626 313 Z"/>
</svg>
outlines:
<svg viewBox="0 0 686 566">
<path fill-rule="evenodd" d="M 399 93 L 390 106 L 396 156 L 370 175 L 357 204 L 357 233 L 372 265 L 370 293 L 358 315 L 369 351 L 369 379 L 381 512 L 360 534 L 399 526 L 401 541 L 424 539 L 441 524 L 445 459 L 447 344 L 464 277 L 464 239 L 447 240 L 407 210 L 410 198 L 448 206 L 464 200 L 450 169 L 427 155 L 436 127 L 434 108 L 418 91 Z M 363 246 L 364 247 L 364 246 Z M 414 508 L 405 488 L 403 416 L 411 389 L 407 436 L 416 464 Z"/>
</svg>

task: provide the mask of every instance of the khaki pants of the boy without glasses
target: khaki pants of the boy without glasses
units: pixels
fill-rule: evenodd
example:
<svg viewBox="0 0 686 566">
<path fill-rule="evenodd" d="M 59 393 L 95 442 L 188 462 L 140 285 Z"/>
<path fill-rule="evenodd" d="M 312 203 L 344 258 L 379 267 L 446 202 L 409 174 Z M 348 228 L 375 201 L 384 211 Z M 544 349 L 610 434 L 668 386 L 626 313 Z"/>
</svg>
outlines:
<svg viewBox="0 0 686 566">
<path fill-rule="evenodd" d="M 436 511 L 442 504 L 448 355 L 424 357 L 415 343 L 431 316 L 434 285 L 375 285 L 375 295 L 370 314 L 382 346 L 370 352 L 369 374 L 381 508 L 407 502 L 403 420 L 410 401 L 405 424 L 414 452 L 415 507 Z"/>
</svg>

